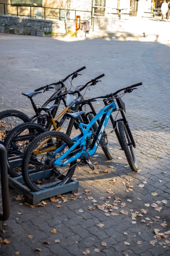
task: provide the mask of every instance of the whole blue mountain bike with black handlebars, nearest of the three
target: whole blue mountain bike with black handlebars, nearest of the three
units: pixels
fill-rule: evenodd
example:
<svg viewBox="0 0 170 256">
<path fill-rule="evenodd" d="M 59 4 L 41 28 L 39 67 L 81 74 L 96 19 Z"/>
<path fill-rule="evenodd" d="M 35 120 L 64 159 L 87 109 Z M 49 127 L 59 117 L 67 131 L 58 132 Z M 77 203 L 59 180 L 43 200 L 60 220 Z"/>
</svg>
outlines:
<svg viewBox="0 0 170 256">
<path fill-rule="evenodd" d="M 72 140 L 60 131 L 47 131 L 37 136 L 28 145 L 23 155 L 21 170 L 26 185 L 32 191 L 40 191 L 65 184 L 72 178 L 77 160 L 80 164 L 88 164 L 94 170 L 90 156 L 96 152 L 101 137 L 105 135 L 104 130 L 109 118 L 131 169 L 137 171 L 136 145 L 124 114 L 124 103 L 118 93 L 121 91 L 124 91 L 124 94 L 131 93 L 134 89 L 137 89 L 134 87 L 139 85 L 142 85 L 142 83 L 120 89 L 113 94 L 77 102 L 77 105 L 83 106 L 96 101 L 96 99 L 104 98 L 105 106 L 93 117 L 89 124 L 78 123 L 81 134 Z M 115 102 L 117 102 L 118 108 Z M 120 111 L 122 118 L 114 120 L 111 115 L 114 111 Z M 67 113 L 67 116 L 78 119 L 84 113 L 85 111 Z M 100 117 L 101 120 L 97 130 L 94 131 L 93 127 Z"/>
</svg>

